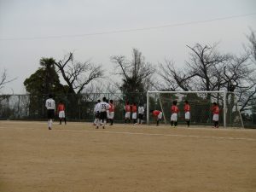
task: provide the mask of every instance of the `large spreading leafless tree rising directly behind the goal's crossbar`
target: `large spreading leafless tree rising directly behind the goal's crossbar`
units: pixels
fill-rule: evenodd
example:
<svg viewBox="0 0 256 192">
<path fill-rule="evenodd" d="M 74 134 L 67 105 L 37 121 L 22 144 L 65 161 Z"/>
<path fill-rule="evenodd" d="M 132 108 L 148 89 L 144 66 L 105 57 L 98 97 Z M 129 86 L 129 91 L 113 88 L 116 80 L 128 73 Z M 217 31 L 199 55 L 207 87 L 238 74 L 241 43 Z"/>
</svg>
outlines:
<svg viewBox="0 0 256 192">
<path fill-rule="evenodd" d="M 224 65 L 230 55 L 221 55 L 217 44 L 195 44 L 190 47 L 185 67 L 176 68 L 173 61 L 160 63 L 160 77 L 170 90 L 220 90 L 224 84 Z"/>
</svg>

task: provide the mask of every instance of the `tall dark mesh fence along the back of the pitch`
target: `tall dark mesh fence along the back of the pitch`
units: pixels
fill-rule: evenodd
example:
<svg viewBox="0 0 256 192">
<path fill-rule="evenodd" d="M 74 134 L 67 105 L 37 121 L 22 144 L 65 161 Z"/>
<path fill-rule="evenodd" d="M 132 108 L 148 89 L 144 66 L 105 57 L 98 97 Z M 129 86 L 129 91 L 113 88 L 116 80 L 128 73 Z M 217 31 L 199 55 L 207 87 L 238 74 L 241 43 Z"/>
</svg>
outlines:
<svg viewBox="0 0 256 192">
<path fill-rule="evenodd" d="M 80 95 L 55 95 L 56 105 L 62 101 L 66 106 L 67 120 L 70 121 L 92 121 L 94 119 L 94 106 L 98 99 L 102 100 L 105 96 L 112 99 L 115 104 L 115 122 L 124 122 L 124 105 L 125 101 L 143 103 L 146 111 L 146 93 L 86 93 Z M 0 96 L 0 119 L 26 119 L 39 120 L 46 119 L 45 100 L 48 96 L 32 95 L 1 95 Z M 129 99 L 128 99 L 129 98 Z M 167 102 L 165 110 L 171 108 L 172 102 Z M 157 107 L 157 105 L 155 105 Z M 183 108 L 181 105 L 180 108 Z M 182 112 L 181 112 L 182 113 Z M 231 117 L 231 113 L 227 116 Z M 147 114 L 144 115 L 145 120 Z M 247 110 L 241 113 L 245 127 L 256 128 L 256 99 L 247 103 Z M 168 117 L 169 119 L 169 117 Z M 150 119 L 153 121 L 153 119 Z M 183 120 L 180 120 L 183 122 Z M 232 126 L 233 119 L 228 122 Z M 201 120 L 199 125 L 207 125 Z"/>
</svg>

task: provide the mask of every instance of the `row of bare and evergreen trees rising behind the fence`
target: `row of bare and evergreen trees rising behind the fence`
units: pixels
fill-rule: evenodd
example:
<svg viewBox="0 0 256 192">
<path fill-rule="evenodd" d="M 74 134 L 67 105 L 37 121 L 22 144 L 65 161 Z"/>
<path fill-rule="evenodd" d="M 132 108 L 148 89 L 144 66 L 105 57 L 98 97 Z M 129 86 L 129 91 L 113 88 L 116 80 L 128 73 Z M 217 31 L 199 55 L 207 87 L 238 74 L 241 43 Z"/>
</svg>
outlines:
<svg viewBox="0 0 256 192">
<path fill-rule="evenodd" d="M 255 32 L 251 31 L 247 36 L 242 55 L 220 53 L 218 44 L 187 45 L 187 48 L 189 58 L 183 67 L 177 67 L 172 60 L 152 65 L 145 61 L 138 49 L 132 49 L 130 60 L 125 55 L 113 55 L 110 60 L 114 64 L 114 74 L 121 80 L 113 83 L 111 79 L 111 83 L 107 84 L 104 83 L 106 78 L 101 65 L 76 61 L 73 53 L 65 55 L 60 61 L 43 57 L 38 70 L 24 81 L 24 85 L 31 96 L 31 108 L 36 110 L 41 106 L 38 113 L 44 113 L 42 106 L 49 93 L 55 93 L 60 98 L 65 95 L 67 101 L 79 105 L 83 101 L 81 94 L 86 92 L 121 91 L 123 100 L 145 102 L 148 90 L 227 90 L 236 92 L 241 111 L 247 110 L 256 93 Z M 61 84 L 60 77 L 65 84 Z M 0 89 L 9 82 L 6 72 L 1 82 Z M 230 99 L 230 102 L 234 101 L 234 98 Z M 230 103 L 230 106 L 233 104 Z M 76 107 L 72 112 L 74 116 L 75 111 Z"/>
</svg>

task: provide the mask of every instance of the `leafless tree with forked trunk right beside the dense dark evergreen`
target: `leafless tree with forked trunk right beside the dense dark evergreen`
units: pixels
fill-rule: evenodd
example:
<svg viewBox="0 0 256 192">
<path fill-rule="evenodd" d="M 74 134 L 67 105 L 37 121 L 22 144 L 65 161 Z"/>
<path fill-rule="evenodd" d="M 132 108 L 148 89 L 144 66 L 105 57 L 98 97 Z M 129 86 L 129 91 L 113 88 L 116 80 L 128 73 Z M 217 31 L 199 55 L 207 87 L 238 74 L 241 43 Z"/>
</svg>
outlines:
<svg viewBox="0 0 256 192">
<path fill-rule="evenodd" d="M 69 87 L 68 92 L 72 94 L 81 93 L 87 84 L 103 77 L 101 65 L 95 65 L 90 61 L 74 61 L 73 53 L 69 53 L 61 61 L 55 62 L 55 66 L 66 81 Z"/>
</svg>

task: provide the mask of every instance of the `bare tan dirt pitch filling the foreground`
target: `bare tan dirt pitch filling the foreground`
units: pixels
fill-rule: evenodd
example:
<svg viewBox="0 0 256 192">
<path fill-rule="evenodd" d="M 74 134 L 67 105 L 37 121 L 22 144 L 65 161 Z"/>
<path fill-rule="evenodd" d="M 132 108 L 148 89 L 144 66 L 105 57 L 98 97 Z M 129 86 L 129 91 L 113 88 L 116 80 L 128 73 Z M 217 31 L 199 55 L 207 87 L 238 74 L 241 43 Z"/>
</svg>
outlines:
<svg viewBox="0 0 256 192">
<path fill-rule="evenodd" d="M 256 191 L 256 130 L 0 121 L 0 191 Z"/>
</svg>

